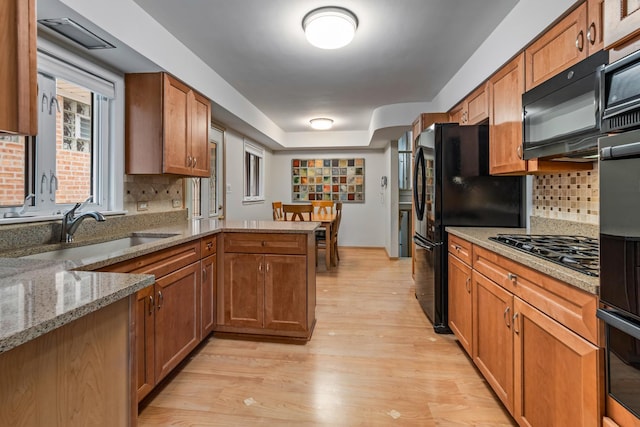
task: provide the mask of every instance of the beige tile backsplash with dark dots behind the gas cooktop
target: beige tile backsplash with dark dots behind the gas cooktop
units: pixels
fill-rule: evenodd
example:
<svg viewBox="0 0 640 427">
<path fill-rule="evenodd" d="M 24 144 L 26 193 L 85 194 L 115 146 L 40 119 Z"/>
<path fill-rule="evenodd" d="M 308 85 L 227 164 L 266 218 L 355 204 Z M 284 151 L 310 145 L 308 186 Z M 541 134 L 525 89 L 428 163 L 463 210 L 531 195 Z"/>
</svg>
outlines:
<svg viewBox="0 0 640 427">
<path fill-rule="evenodd" d="M 540 175 L 533 181 L 533 216 L 598 224 L 598 164 L 593 170 Z"/>
</svg>

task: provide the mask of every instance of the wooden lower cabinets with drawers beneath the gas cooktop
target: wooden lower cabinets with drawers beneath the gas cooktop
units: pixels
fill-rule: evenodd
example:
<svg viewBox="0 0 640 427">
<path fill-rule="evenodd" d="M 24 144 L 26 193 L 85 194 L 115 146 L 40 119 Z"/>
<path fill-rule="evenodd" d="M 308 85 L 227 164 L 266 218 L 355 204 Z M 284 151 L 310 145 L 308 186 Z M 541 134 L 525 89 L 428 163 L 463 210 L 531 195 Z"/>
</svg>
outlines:
<svg viewBox="0 0 640 427">
<path fill-rule="evenodd" d="M 597 296 L 478 245 L 454 243 L 450 239 L 450 326 L 465 349 L 470 341 L 474 364 L 518 424 L 601 425 Z M 471 251 L 455 249 L 470 246 Z M 454 256 L 468 252 L 471 266 Z"/>
</svg>

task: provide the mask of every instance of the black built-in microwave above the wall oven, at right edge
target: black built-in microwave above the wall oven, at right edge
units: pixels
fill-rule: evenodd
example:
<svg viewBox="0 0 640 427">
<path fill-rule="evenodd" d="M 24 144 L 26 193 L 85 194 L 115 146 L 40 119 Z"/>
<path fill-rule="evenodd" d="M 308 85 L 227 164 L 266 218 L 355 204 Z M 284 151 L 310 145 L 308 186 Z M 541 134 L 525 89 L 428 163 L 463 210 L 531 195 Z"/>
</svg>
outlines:
<svg viewBox="0 0 640 427">
<path fill-rule="evenodd" d="M 640 51 L 600 70 L 603 132 L 640 128 Z"/>
</svg>

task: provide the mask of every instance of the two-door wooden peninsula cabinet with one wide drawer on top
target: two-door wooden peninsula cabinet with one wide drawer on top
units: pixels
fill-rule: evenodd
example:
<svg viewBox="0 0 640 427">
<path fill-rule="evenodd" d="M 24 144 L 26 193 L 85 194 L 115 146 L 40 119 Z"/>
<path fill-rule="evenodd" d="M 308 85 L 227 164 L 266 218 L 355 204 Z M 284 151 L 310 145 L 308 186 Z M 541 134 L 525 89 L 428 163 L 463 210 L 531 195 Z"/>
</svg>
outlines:
<svg viewBox="0 0 640 427">
<path fill-rule="evenodd" d="M 217 334 L 309 339 L 315 242 L 302 234 L 227 233 Z"/>
</svg>

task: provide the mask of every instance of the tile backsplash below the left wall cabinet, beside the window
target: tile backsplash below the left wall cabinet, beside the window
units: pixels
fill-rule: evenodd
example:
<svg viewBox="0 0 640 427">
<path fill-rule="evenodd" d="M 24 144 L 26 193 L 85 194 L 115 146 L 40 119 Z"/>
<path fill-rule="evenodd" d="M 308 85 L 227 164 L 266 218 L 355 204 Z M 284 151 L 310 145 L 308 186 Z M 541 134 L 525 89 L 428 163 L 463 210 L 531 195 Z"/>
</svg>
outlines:
<svg viewBox="0 0 640 427">
<path fill-rule="evenodd" d="M 125 175 L 124 208 L 130 214 L 142 213 L 138 202 L 146 202 L 146 212 L 184 209 L 184 183 L 171 175 Z M 173 201 L 179 203 L 174 207 Z"/>
</svg>

